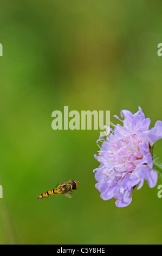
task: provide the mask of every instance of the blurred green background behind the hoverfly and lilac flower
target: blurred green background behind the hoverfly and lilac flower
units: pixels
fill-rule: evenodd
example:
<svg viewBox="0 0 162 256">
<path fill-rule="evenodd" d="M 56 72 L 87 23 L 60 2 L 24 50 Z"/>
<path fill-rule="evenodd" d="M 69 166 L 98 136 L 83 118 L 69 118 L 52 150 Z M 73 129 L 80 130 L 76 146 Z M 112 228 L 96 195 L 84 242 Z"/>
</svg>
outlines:
<svg viewBox="0 0 162 256">
<path fill-rule="evenodd" d="M 95 189 L 99 131 L 51 129 L 51 113 L 141 106 L 161 119 L 161 1 L 1 1 L 0 243 L 161 243 L 157 186 L 116 208 Z M 162 160 L 161 141 L 154 153 Z M 36 197 L 79 180 L 73 199 Z M 158 184 L 162 184 L 159 178 Z"/>
</svg>

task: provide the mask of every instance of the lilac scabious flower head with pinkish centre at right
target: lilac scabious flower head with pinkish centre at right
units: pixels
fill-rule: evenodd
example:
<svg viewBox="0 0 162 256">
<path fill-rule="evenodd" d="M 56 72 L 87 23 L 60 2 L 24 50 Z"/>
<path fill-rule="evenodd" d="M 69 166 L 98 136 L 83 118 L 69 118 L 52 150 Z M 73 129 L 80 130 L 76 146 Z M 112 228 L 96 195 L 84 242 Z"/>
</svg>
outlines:
<svg viewBox="0 0 162 256">
<path fill-rule="evenodd" d="M 153 169 L 153 145 L 162 138 L 162 121 L 157 121 L 151 130 L 150 118 L 139 107 L 135 114 L 128 110 L 121 111 L 120 120 L 123 125 L 109 127 L 107 137 L 100 136 L 97 144 L 102 143 L 98 156 L 100 166 L 94 169 L 95 187 L 101 193 L 103 200 L 116 199 L 115 205 L 125 207 L 132 202 L 132 190 L 138 185 L 138 190 L 147 181 L 151 188 L 157 184 L 158 173 Z M 99 145 L 99 144 L 98 144 Z"/>
</svg>

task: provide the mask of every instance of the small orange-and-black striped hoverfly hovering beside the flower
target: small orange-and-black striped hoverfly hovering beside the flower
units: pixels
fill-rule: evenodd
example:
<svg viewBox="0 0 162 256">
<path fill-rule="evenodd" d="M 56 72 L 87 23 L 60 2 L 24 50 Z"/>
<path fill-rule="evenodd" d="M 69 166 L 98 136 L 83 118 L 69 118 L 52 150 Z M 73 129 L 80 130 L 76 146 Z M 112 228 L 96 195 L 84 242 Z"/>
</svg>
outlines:
<svg viewBox="0 0 162 256">
<path fill-rule="evenodd" d="M 65 194 L 68 198 L 72 198 L 70 194 L 73 193 L 74 190 L 77 190 L 77 183 L 79 181 L 69 180 L 64 181 L 60 183 L 57 188 L 54 188 L 53 190 L 49 190 L 43 194 L 40 194 L 40 196 L 37 197 L 37 199 L 43 199 L 51 196 L 52 194 Z"/>
</svg>

